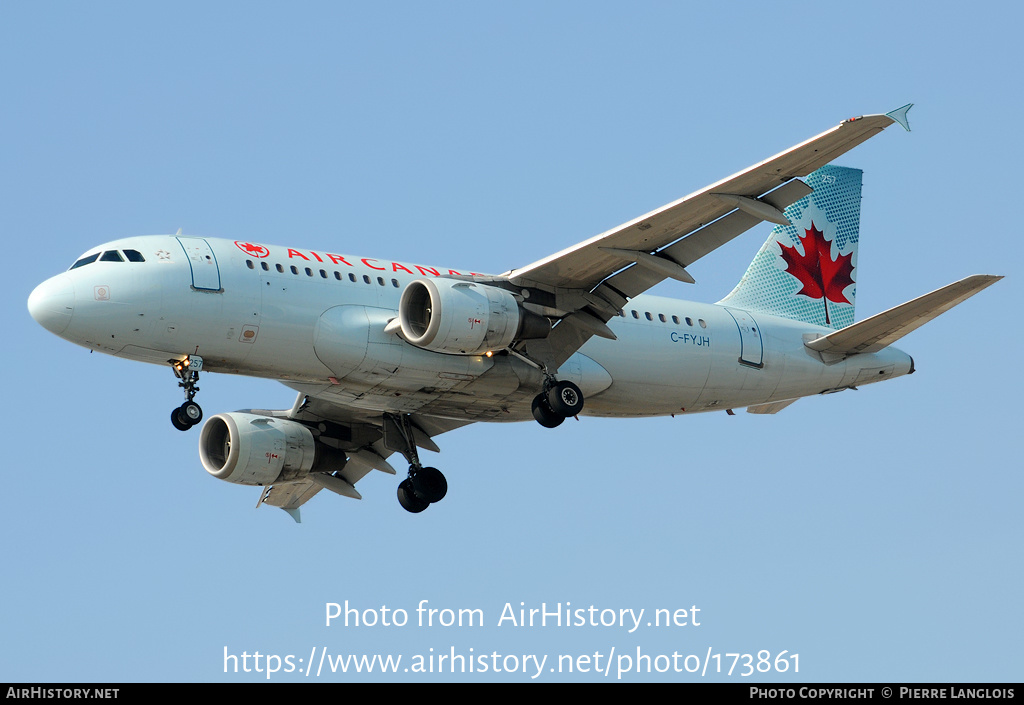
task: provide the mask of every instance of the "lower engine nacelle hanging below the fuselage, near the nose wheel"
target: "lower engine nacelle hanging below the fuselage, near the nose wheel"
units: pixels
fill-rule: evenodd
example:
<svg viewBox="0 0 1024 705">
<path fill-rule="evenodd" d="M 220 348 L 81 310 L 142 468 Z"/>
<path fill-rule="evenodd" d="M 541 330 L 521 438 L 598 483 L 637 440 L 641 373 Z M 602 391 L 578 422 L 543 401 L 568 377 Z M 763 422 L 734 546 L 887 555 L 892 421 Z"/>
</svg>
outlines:
<svg viewBox="0 0 1024 705">
<path fill-rule="evenodd" d="M 203 425 L 199 455 L 206 471 L 240 485 L 300 480 L 341 469 L 344 452 L 317 442 L 301 423 L 257 414 L 217 414 Z"/>
</svg>

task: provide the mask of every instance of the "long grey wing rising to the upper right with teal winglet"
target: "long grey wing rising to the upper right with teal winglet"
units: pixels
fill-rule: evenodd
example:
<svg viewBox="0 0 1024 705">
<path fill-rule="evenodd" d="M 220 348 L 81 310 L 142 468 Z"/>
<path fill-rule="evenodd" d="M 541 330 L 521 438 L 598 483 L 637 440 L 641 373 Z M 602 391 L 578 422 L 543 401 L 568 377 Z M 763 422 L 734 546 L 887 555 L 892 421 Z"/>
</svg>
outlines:
<svg viewBox="0 0 1024 705">
<path fill-rule="evenodd" d="M 559 319 L 544 340 L 515 350 L 557 368 L 592 335 L 614 337 L 606 323 L 625 303 L 667 278 L 693 283 L 686 267 L 768 220 L 788 224 L 786 206 L 810 193 L 799 180 L 893 123 L 909 130 L 910 106 L 851 118 L 805 142 L 617 227 L 496 281 L 524 290 L 526 305 Z"/>
</svg>

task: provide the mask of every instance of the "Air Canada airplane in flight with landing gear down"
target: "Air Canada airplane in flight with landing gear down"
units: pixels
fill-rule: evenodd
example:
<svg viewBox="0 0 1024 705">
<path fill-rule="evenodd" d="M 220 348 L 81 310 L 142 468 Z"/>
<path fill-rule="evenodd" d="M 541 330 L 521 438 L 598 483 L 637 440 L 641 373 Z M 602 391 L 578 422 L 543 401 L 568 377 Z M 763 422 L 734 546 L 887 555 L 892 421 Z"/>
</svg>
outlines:
<svg viewBox="0 0 1024 705">
<path fill-rule="evenodd" d="M 325 250 L 176 235 L 90 248 L 30 295 L 50 332 L 169 365 L 203 419 L 201 373 L 276 379 L 291 409 L 209 418 L 206 470 L 261 488 L 300 521 L 321 490 L 361 498 L 373 470 L 409 464 L 399 504 L 420 512 L 447 481 L 421 463 L 436 437 L 477 421 L 646 417 L 797 400 L 910 374 L 892 343 L 1001 277 L 975 275 L 854 322 L 861 172 L 833 160 L 910 105 L 843 121 L 706 189 L 526 266 L 460 272 Z M 741 233 L 774 224 L 717 303 L 646 294 Z"/>
</svg>

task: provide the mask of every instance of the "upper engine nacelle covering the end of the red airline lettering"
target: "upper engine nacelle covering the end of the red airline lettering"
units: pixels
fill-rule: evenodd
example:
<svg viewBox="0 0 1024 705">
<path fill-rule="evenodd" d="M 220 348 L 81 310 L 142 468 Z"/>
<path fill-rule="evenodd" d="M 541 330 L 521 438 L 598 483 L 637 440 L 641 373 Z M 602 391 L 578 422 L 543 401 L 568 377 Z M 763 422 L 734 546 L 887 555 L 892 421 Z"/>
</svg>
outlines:
<svg viewBox="0 0 1024 705">
<path fill-rule="evenodd" d="M 523 309 L 508 291 L 452 279 L 410 282 L 398 321 L 413 345 L 450 355 L 482 355 L 551 332 L 546 318 Z"/>
</svg>

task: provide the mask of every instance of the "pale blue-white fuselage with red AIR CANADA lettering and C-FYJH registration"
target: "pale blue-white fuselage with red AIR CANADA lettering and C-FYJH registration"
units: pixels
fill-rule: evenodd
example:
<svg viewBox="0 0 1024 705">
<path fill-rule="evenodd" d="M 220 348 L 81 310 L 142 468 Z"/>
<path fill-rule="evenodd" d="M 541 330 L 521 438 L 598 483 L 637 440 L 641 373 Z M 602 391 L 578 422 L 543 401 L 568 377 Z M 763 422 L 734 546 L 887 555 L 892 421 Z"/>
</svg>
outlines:
<svg viewBox="0 0 1024 705">
<path fill-rule="evenodd" d="M 432 352 L 384 330 L 410 282 L 474 273 L 174 236 L 90 253 L 126 250 L 144 261 L 57 275 L 33 292 L 33 316 L 90 349 L 157 364 L 199 355 L 206 371 L 280 379 L 357 409 L 531 418 L 543 376 L 516 357 Z M 592 338 L 557 371 L 582 388 L 588 415 L 741 408 L 912 371 L 892 347 L 826 364 L 804 343 L 830 329 L 718 304 L 640 295 L 608 326 L 616 340 Z"/>
</svg>

